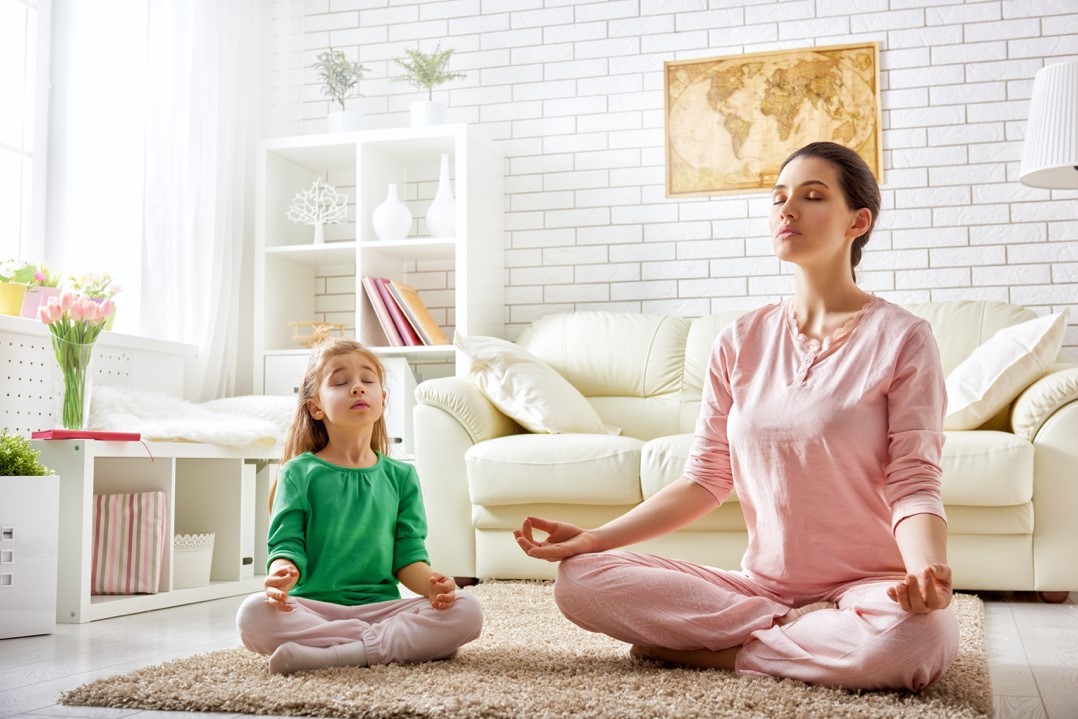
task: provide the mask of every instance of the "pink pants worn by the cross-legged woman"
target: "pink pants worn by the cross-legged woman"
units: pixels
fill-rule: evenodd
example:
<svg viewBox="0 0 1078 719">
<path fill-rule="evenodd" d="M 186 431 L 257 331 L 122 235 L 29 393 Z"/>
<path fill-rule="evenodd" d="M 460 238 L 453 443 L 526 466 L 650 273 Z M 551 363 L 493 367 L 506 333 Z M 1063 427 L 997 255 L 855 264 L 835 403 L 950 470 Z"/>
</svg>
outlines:
<svg viewBox="0 0 1078 719">
<path fill-rule="evenodd" d="M 563 561 L 554 598 L 572 623 L 621 641 L 678 650 L 741 647 L 737 672 L 826 687 L 920 691 L 954 661 L 958 622 L 950 608 L 903 611 L 886 595 L 893 583 L 786 597 L 724 569 L 604 552 Z M 791 608 L 819 600 L 838 608 L 774 625 Z"/>
</svg>

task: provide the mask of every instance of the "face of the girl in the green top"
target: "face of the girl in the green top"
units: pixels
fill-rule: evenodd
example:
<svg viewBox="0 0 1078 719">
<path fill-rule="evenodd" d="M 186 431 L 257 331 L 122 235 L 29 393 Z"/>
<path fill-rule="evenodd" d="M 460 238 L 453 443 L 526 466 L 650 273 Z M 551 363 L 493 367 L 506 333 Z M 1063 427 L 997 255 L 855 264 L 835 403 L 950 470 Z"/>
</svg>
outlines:
<svg viewBox="0 0 1078 719">
<path fill-rule="evenodd" d="M 318 395 L 307 403 L 310 416 L 332 425 L 373 426 L 386 406 L 386 390 L 374 363 L 362 352 L 331 357 Z"/>
</svg>

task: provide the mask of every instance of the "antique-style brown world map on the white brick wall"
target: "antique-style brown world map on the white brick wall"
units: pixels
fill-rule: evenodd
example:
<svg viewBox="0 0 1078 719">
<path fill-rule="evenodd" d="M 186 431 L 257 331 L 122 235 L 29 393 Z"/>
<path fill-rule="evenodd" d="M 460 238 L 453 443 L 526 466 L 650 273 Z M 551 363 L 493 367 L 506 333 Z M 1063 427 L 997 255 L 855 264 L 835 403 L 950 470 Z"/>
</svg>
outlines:
<svg viewBox="0 0 1078 719">
<path fill-rule="evenodd" d="M 816 140 L 883 181 L 879 43 L 667 61 L 663 75 L 667 197 L 771 190 Z"/>
</svg>

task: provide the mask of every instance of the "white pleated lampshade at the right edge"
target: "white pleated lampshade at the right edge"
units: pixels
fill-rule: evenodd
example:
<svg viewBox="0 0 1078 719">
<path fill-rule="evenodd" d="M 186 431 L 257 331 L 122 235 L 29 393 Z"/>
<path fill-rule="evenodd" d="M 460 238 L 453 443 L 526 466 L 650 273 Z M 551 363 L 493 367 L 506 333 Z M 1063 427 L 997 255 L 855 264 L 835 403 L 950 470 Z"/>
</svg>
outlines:
<svg viewBox="0 0 1078 719">
<path fill-rule="evenodd" d="M 1033 188 L 1078 190 L 1078 61 L 1037 71 L 1019 179 Z"/>
</svg>

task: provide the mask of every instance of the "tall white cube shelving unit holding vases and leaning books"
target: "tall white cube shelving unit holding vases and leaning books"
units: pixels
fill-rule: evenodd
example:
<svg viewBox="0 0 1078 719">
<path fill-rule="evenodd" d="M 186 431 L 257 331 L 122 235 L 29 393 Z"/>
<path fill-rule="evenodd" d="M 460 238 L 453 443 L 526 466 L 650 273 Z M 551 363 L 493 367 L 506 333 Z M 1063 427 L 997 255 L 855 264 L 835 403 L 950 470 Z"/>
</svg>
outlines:
<svg viewBox="0 0 1078 719">
<path fill-rule="evenodd" d="M 424 212 L 438 184 L 441 155 L 450 156 L 456 236 L 427 235 Z M 390 347 L 362 288 L 364 276 L 415 284 L 447 336 L 500 336 L 505 331 L 503 156 L 468 125 L 362 130 L 265 140 L 259 147 L 255 201 L 254 387 L 291 393 L 307 350 L 291 338 L 290 321 L 327 321 L 318 306 L 318 277 L 350 282 L 354 299 L 336 315 L 351 319 L 346 334 L 379 354 L 410 362 L 453 363 L 452 345 Z M 309 225 L 286 217 L 295 193 L 322 177 L 349 197 L 346 224 L 327 225 L 314 244 Z M 409 237 L 377 238 L 371 215 L 396 183 L 413 217 Z M 438 271 L 445 289 L 425 290 L 410 278 Z M 341 290 L 338 289 L 338 292 Z"/>
</svg>

